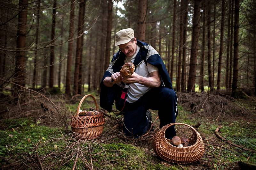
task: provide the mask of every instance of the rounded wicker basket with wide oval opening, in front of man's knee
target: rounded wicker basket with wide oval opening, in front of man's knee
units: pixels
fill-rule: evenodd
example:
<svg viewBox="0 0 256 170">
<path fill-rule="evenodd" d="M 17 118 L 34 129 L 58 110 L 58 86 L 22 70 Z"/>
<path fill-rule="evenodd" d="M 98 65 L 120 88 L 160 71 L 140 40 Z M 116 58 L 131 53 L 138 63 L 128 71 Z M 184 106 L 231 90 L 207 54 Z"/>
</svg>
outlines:
<svg viewBox="0 0 256 170">
<path fill-rule="evenodd" d="M 192 136 L 189 138 L 190 146 L 176 147 L 170 144 L 164 137 L 165 130 L 173 125 L 184 125 L 192 129 Z M 204 143 L 200 134 L 192 126 L 185 123 L 170 123 L 162 127 L 154 137 L 154 150 L 160 158 L 177 164 L 189 164 L 197 161 L 203 156 Z"/>
</svg>

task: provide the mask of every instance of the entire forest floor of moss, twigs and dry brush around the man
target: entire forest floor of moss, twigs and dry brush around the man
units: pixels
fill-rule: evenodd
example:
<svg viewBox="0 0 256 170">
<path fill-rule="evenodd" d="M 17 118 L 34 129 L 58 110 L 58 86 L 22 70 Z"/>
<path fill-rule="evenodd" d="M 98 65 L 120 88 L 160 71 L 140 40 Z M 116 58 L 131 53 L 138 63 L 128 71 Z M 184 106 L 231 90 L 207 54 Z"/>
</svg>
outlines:
<svg viewBox="0 0 256 170">
<path fill-rule="evenodd" d="M 97 101 L 99 96 L 93 94 Z M 179 93 L 178 97 L 183 94 Z M 187 94 L 186 94 L 187 95 Z M 197 94 L 196 94 L 197 95 Z M 54 103 L 46 100 L 50 99 Z M 206 97 L 206 96 L 205 96 Z M 216 97 L 216 96 L 215 96 Z M 176 122 L 195 125 L 204 142 L 203 157 L 191 164 L 178 165 L 159 159 L 153 150 L 152 142 L 159 129 L 157 112 L 151 111 L 155 130 L 147 136 L 133 139 L 125 137 L 122 130 L 122 115 L 115 111 L 105 116 L 103 134 L 95 139 L 77 140 L 71 131 L 71 115 L 74 115 L 82 96 L 71 100 L 62 95 L 38 96 L 20 95 L 14 100 L 8 95 L 1 99 L 0 107 L 0 168 L 1 169 L 250 169 L 256 164 L 256 100 L 220 99 L 220 111 L 210 107 L 211 115 L 205 114 L 209 96 L 201 99 L 200 111 L 196 107 L 179 104 Z M 200 96 L 199 96 L 200 98 Z M 184 99 L 181 97 L 181 99 Z M 211 100 L 210 100 L 211 101 Z M 212 102 L 212 101 L 211 101 Z M 193 103 L 193 102 L 192 102 Z M 228 114 L 224 104 L 232 103 L 244 111 Z M 212 103 L 210 103 L 212 104 Z M 213 105 L 213 104 L 212 104 Z M 88 99 L 82 110 L 95 108 Z M 200 110 L 200 109 L 199 109 Z M 232 108 L 230 108 L 232 111 Z M 191 112 L 192 111 L 192 112 Z M 235 112 L 235 110 L 233 110 Z M 207 111 L 209 112 L 209 111 Z M 214 112 L 215 115 L 214 115 Z M 225 114 L 226 113 L 226 114 Z M 241 148 L 222 141 L 219 134 Z M 189 137 L 189 129 L 175 126 L 177 136 Z M 192 133 L 191 133 L 192 134 Z"/>
</svg>

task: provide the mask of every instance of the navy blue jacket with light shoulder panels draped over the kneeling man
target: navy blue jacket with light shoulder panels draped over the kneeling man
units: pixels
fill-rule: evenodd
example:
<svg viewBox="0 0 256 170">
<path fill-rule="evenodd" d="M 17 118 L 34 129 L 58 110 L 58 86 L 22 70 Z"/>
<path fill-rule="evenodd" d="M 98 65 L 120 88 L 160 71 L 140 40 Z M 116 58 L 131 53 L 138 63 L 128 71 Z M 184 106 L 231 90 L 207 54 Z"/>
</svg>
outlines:
<svg viewBox="0 0 256 170">
<path fill-rule="evenodd" d="M 150 45 L 148 45 L 147 43 L 139 40 L 137 40 L 137 45 L 140 46 L 140 50 L 133 62 L 135 67 L 138 64 L 140 64 L 142 61 L 156 66 L 160 74 L 161 86 L 165 86 L 167 88 L 173 89 L 168 71 L 164 65 L 162 58 L 156 52 L 156 50 L 152 48 Z M 116 53 L 116 55 L 114 55 L 114 57 L 111 60 L 111 62 L 115 61 L 115 63 L 112 65 L 112 70 L 114 73 L 120 72 L 121 67 L 124 65 L 124 59 L 125 59 L 125 54 L 121 50 L 119 50 Z M 103 84 L 104 78 L 111 77 L 111 75 L 112 75 L 111 72 L 106 71 L 100 82 L 100 107 L 104 108 L 108 112 L 112 111 L 114 100 L 116 99 L 116 97 L 120 97 L 117 95 L 122 90 L 122 88 L 116 84 L 114 84 L 112 87 L 107 87 Z"/>
</svg>

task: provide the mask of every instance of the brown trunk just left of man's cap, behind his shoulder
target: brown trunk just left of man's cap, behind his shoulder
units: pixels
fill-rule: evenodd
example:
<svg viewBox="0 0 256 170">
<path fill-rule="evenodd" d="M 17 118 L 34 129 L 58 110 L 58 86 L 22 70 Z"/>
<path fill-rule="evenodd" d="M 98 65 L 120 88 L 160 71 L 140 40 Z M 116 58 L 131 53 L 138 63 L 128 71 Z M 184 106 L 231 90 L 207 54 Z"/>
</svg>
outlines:
<svg viewBox="0 0 256 170">
<path fill-rule="evenodd" d="M 112 18 L 113 18 L 112 8 L 113 8 L 113 2 L 112 0 L 108 0 L 108 20 L 107 20 L 107 37 L 106 37 L 104 70 L 108 69 L 109 58 L 110 58 L 111 29 L 112 29 Z"/>
</svg>

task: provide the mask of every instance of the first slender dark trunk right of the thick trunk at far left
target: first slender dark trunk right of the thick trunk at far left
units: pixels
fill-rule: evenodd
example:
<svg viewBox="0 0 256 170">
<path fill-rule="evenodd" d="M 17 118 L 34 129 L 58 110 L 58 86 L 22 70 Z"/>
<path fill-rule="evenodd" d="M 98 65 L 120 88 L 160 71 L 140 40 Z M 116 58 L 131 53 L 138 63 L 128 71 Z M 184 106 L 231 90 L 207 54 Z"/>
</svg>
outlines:
<svg viewBox="0 0 256 170">
<path fill-rule="evenodd" d="M 40 9 L 40 0 L 38 0 L 38 4 L 37 4 L 37 12 L 36 12 L 36 44 L 35 44 L 35 48 L 37 49 L 38 46 L 38 34 L 39 34 L 39 19 L 40 19 L 40 15 L 39 15 L 39 9 Z M 32 81 L 32 87 L 35 88 L 36 85 L 36 63 L 37 63 L 37 50 L 35 50 L 35 58 L 34 58 L 34 70 L 33 70 L 33 81 Z"/>
</svg>

